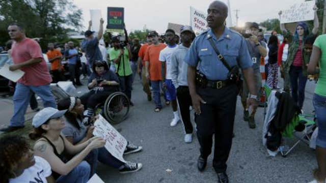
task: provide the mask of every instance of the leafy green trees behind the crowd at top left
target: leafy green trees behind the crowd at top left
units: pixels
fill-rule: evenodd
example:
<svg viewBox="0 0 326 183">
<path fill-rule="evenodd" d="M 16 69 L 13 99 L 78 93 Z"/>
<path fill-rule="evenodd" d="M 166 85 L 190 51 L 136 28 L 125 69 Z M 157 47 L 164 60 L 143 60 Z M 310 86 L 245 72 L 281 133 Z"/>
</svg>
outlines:
<svg viewBox="0 0 326 183">
<path fill-rule="evenodd" d="M 82 27 L 81 16 L 72 0 L 0 0 L 0 44 L 9 40 L 7 27 L 13 22 L 25 28 L 26 36 L 44 43 L 67 39 L 68 29 Z"/>
</svg>

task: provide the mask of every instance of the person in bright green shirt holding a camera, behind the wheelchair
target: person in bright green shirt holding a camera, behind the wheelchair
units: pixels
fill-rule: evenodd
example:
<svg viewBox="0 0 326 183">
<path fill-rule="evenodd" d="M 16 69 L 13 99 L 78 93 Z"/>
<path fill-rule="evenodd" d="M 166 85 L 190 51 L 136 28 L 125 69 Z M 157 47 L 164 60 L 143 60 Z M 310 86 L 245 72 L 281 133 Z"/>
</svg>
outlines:
<svg viewBox="0 0 326 183">
<path fill-rule="evenodd" d="M 111 41 L 114 49 L 111 49 L 109 55 L 117 68 L 116 72 L 119 76 L 121 92 L 127 95 L 130 105 L 133 106 L 131 102 L 132 71 L 129 62 L 132 54 L 130 45 L 120 41 L 120 38 L 120 36 L 112 37 Z"/>
</svg>

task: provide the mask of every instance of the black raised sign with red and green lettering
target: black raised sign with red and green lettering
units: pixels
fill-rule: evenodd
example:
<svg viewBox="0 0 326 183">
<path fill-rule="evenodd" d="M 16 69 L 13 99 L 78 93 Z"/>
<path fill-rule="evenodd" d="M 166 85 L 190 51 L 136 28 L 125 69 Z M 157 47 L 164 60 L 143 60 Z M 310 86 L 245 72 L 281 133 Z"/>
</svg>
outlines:
<svg viewBox="0 0 326 183">
<path fill-rule="evenodd" d="M 124 8 L 107 7 L 107 25 L 110 32 L 121 32 L 124 29 Z"/>
</svg>

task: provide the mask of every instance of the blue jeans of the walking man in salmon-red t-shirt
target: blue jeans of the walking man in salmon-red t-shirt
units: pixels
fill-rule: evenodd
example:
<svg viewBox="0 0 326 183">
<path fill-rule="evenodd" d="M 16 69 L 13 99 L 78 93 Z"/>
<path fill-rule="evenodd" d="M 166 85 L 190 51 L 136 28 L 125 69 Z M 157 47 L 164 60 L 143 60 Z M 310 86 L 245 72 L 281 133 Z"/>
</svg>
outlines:
<svg viewBox="0 0 326 183">
<path fill-rule="evenodd" d="M 13 101 L 14 115 L 10 119 L 11 127 L 21 127 L 25 123 L 25 113 L 30 103 L 32 92 L 37 94 L 43 100 L 44 107 L 57 108 L 57 104 L 53 94 L 51 93 L 50 85 L 43 86 L 26 86 L 17 83 Z"/>
</svg>

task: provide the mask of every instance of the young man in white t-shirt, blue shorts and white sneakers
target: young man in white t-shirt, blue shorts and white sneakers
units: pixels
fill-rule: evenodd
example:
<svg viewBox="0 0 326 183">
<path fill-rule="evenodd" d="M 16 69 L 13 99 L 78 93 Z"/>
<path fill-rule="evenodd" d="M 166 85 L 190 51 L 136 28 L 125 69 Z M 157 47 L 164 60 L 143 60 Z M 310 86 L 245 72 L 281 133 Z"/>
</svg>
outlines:
<svg viewBox="0 0 326 183">
<path fill-rule="evenodd" d="M 164 84 L 164 88 L 166 88 L 166 96 L 167 96 L 167 104 L 172 103 L 172 109 L 174 118 L 171 121 L 171 127 L 177 125 L 178 121 L 180 120 L 178 107 L 177 107 L 177 100 L 176 100 L 176 89 L 172 83 L 171 77 L 171 55 L 176 50 L 177 44 L 175 44 L 175 32 L 173 29 L 167 29 L 165 32 L 166 43 L 168 46 L 162 49 L 159 53 L 159 60 L 162 62 L 162 78 Z"/>
</svg>

